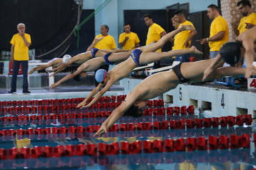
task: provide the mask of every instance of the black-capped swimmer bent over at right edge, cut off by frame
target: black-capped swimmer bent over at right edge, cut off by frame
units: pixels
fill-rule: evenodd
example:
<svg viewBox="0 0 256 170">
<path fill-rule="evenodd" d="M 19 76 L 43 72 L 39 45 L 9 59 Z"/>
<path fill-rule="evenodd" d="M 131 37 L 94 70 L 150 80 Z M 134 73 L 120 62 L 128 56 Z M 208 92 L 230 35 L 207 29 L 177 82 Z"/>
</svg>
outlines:
<svg viewBox="0 0 256 170">
<path fill-rule="evenodd" d="M 235 42 L 227 42 L 220 48 L 220 53 L 213 60 L 210 66 L 204 71 L 203 81 L 218 67 L 222 67 L 224 62 L 228 64 L 236 64 L 240 58 L 245 59 L 247 63 L 245 78 L 248 79 L 252 75 L 252 62 L 255 60 L 256 47 L 256 27 L 245 30 L 237 38 Z"/>
</svg>

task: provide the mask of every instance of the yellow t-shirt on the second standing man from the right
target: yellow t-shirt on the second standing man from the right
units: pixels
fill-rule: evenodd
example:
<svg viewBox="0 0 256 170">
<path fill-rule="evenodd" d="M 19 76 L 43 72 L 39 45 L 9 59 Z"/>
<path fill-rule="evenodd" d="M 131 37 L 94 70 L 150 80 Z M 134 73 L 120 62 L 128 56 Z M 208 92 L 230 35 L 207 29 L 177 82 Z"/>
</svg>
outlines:
<svg viewBox="0 0 256 170">
<path fill-rule="evenodd" d="M 219 51 L 220 47 L 222 47 L 225 42 L 228 42 L 228 22 L 222 16 L 218 16 L 210 25 L 210 37 L 213 37 L 213 35 L 223 30 L 225 31 L 225 35 L 221 40 L 209 42 L 210 51 Z"/>
</svg>

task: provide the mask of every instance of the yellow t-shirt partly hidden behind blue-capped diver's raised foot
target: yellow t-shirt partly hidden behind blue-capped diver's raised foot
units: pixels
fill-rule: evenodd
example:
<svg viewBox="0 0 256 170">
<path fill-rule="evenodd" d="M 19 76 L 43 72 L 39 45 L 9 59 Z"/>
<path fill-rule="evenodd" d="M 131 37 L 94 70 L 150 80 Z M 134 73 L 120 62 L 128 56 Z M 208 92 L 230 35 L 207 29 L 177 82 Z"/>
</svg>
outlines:
<svg viewBox="0 0 256 170">
<path fill-rule="evenodd" d="M 185 22 L 181 23 L 178 26 L 178 28 L 180 28 L 182 25 L 191 25 L 191 26 L 193 26 L 193 23 L 191 23 L 190 21 L 185 21 Z M 193 26 L 193 28 L 195 29 L 194 26 Z M 177 33 L 174 37 L 174 47 L 173 47 L 173 49 L 182 50 L 182 49 L 189 48 L 189 47 L 185 47 L 185 41 L 186 41 L 186 39 L 188 39 L 190 34 L 191 34 L 191 30 L 183 30 L 183 31 L 181 31 L 181 33 Z M 189 43 L 191 44 L 191 40 L 189 41 Z"/>
</svg>

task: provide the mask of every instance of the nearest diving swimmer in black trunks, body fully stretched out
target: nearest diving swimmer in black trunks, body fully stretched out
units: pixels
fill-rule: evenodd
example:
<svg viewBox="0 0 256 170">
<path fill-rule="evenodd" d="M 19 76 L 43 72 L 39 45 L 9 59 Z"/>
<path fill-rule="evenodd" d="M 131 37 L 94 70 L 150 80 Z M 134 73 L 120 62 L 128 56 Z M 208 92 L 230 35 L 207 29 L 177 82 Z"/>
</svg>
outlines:
<svg viewBox="0 0 256 170">
<path fill-rule="evenodd" d="M 142 116 L 142 108 L 146 107 L 150 98 L 164 94 L 166 91 L 175 89 L 181 83 L 201 82 L 203 71 L 213 62 L 211 60 L 201 60 L 198 62 L 184 62 L 176 65 L 173 69 L 153 74 L 138 84 L 127 95 L 122 104 L 114 109 L 109 118 L 102 123 L 100 130 L 95 136 L 103 135 L 107 130 L 121 118 L 123 115 L 132 115 L 134 117 Z M 240 76 L 245 74 L 245 68 L 238 67 L 221 67 L 215 69 L 206 81 L 226 76 Z M 256 69 L 252 70 L 252 74 L 256 75 Z"/>
</svg>

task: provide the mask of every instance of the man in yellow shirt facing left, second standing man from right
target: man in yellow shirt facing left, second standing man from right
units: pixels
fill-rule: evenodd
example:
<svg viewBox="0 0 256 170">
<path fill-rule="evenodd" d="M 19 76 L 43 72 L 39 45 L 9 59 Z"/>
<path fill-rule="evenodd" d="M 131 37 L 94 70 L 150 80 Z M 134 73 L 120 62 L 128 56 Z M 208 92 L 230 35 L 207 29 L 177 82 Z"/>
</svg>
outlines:
<svg viewBox="0 0 256 170">
<path fill-rule="evenodd" d="M 225 42 L 228 42 L 229 30 L 227 21 L 220 16 L 218 6 L 214 4 L 208 6 L 207 15 L 210 19 L 213 19 L 213 22 L 210 24 L 210 37 L 203 38 L 200 42 L 202 45 L 209 43 L 209 59 L 211 59 L 216 57 L 220 51 L 220 47 L 222 47 Z"/>
</svg>

